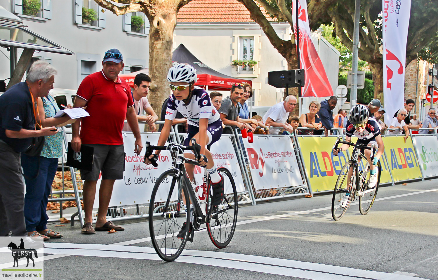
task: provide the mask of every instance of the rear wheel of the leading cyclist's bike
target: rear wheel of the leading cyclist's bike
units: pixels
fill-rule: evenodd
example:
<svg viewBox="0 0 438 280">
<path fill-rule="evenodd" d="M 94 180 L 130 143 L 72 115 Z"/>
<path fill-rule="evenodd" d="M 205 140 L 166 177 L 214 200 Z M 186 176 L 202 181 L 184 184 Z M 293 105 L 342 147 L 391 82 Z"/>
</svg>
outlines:
<svg viewBox="0 0 438 280">
<path fill-rule="evenodd" d="M 210 222 L 207 223 L 207 231 L 210 240 L 217 248 L 226 247 L 233 238 L 237 224 L 237 191 L 233 176 L 225 167 L 218 168 L 219 174 L 224 179 L 225 198 L 219 206 L 212 206 L 212 184 L 207 192 L 207 211 L 212 207 Z M 207 212 L 208 213 L 208 212 Z"/>
</svg>

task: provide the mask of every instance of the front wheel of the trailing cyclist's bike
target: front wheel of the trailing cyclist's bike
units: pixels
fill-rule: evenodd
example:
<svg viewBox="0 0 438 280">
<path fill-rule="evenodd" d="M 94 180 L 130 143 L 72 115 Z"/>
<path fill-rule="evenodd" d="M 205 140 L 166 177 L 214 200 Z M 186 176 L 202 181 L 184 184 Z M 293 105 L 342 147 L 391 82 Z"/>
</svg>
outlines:
<svg viewBox="0 0 438 280">
<path fill-rule="evenodd" d="M 348 174 L 349 170 L 352 170 L 350 175 Z M 333 190 L 333 198 L 332 198 L 332 217 L 333 220 L 337 221 L 344 216 L 347 208 L 350 206 L 351 198 L 353 195 L 350 195 L 348 198 L 348 202 L 345 207 L 340 206 L 341 200 L 347 193 L 347 190 L 350 192 L 353 189 L 354 182 L 354 162 L 352 160 L 347 161 L 347 163 L 342 167 L 341 173 L 339 173 L 338 180 L 336 181 L 336 187 Z"/>
</svg>

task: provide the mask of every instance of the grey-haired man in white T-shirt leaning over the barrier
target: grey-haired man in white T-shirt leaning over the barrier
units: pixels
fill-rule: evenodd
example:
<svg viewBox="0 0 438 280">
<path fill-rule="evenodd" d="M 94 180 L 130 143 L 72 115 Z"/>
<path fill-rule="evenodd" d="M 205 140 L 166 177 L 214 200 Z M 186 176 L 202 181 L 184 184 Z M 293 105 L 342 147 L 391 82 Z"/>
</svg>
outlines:
<svg viewBox="0 0 438 280">
<path fill-rule="evenodd" d="M 287 96 L 283 102 L 269 108 L 268 112 L 263 116 L 265 125 L 273 126 L 269 129 L 269 134 L 279 134 L 280 129 L 284 128 L 289 132 L 293 132 L 293 127 L 288 124 L 287 118 L 289 113 L 297 106 L 297 98 L 293 95 Z"/>
</svg>

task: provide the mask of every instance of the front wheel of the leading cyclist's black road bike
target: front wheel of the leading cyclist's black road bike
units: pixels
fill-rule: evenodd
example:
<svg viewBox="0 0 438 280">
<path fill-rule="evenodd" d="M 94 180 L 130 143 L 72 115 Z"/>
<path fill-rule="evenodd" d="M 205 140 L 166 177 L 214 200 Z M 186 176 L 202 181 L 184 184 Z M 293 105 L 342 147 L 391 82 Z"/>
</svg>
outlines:
<svg viewBox="0 0 438 280">
<path fill-rule="evenodd" d="M 181 254 L 186 245 L 189 227 L 185 237 L 178 239 L 184 222 L 190 222 L 190 208 L 183 203 L 180 189 L 182 177 L 175 170 L 167 170 L 158 178 L 152 190 L 149 203 L 149 232 L 152 245 L 159 257 L 171 262 Z M 189 204 L 188 192 L 184 189 L 185 201 Z"/>
</svg>

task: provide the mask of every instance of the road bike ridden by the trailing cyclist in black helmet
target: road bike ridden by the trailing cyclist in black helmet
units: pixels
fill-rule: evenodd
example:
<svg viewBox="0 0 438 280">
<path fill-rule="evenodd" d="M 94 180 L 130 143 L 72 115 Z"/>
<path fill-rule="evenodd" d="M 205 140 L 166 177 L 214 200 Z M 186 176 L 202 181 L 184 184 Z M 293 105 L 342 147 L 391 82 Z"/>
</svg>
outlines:
<svg viewBox="0 0 438 280">
<path fill-rule="evenodd" d="M 333 190 L 332 217 L 335 221 L 340 220 L 344 216 L 351 202 L 357 200 L 357 198 L 359 198 L 360 214 L 365 215 L 370 211 L 379 188 L 381 171 L 380 162 L 378 162 L 376 164 L 378 172 L 377 184 L 374 188 L 368 188 L 370 165 L 363 151 L 364 149 L 371 150 L 372 160 L 374 158 L 374 147 L 356 144 L 338 138 L 333 149 L 338 149 L 339 144 L 353 146 L 353 153 L 351 159 L 342 167 L 338 180 L 336 181 L 335 189 Z M 345 207 L 341 207 L 340 202 L 347 193 L 350 193 L 348 202 Z"/>
</svg>

